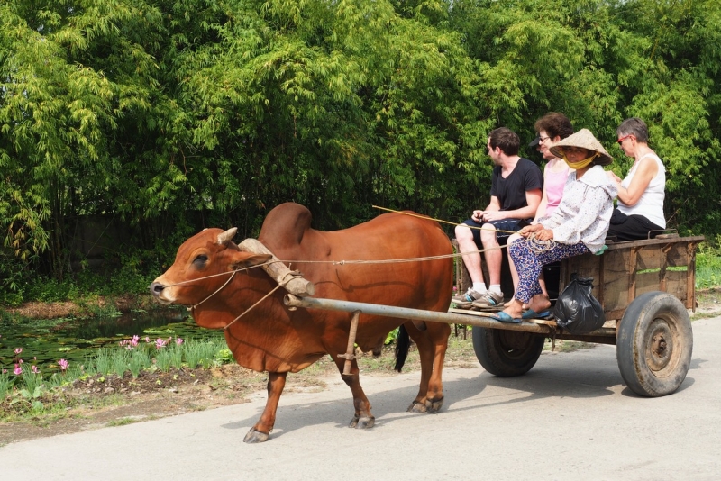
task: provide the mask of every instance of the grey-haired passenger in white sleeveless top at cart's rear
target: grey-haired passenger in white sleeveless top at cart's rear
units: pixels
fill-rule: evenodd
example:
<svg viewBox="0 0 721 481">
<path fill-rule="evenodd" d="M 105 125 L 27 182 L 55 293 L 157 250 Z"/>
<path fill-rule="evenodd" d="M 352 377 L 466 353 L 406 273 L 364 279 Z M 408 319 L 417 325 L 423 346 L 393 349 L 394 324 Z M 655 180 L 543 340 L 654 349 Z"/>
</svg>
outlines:
<svg viewBox="0 0 721 481">
<path fill-rule="evenodd" d="M 608 172 L 616 182 L 618 203 L 607 237 L 615 237 L 617 241 L 653 239 L 666 229 L 663 216 L 666 168 L 648 146 L 648 128 L 643 120 L 626 119 L 616 133 L 621 149 L 634 158 L 634 165 L 624 180 Z"/>
</svg>

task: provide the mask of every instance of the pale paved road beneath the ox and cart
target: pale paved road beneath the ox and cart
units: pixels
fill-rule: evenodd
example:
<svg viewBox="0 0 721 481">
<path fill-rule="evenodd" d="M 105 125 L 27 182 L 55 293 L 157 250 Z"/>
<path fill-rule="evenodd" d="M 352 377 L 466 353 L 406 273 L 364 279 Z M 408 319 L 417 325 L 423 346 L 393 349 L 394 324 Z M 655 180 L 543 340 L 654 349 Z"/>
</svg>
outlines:
<svg viewBox="0 0 721 481">
<path fill-rule="evenodd" d="M 616 349 L 543 354 L 524 377 L 448 369 L 446 405 L 405 413 L 417 374 L 365 377 L 376 427 L 348 429 L 351 397 L 287 394 L 269 442 L 243 444 L 264 396 L 0 448 L 5 480 L 721 479 L 721 317 L 694 322 L 689 375 L 673 395 L 634 395 Z"/>
</svg>

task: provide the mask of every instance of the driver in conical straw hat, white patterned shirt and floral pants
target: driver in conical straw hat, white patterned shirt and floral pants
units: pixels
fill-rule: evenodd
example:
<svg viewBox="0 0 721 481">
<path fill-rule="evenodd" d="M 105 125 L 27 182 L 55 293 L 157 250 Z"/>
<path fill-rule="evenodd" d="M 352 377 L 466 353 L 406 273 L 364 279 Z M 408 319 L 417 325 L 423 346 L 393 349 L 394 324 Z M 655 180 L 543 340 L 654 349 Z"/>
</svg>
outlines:
<svg viewBox="0 0 721 481">
<path fill-rule="evenodd" d="M 524 239 L 508 248 L 518 271 L 518 287 L 511 304 L 497 313 L 501 322 L 538 317 L 551 307 L 538 283 L 544 265 L 598 252 L 604 246 L 616 185 L 602 166 L 613 159 L 588 129 L 559 141 L 551 151 L 576 171 L 570 173 L 561 204 L 552 215 L 521 229 L 518 233 Z"/>
</svg>

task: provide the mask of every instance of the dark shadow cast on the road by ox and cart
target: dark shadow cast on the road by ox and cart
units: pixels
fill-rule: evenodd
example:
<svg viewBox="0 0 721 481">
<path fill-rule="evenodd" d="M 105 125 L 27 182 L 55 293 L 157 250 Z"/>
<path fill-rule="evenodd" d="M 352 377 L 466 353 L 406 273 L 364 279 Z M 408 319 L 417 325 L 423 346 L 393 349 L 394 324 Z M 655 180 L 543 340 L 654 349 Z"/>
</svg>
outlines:
<svg viewBox="0 0 721 481">
<path fill-rule="evenodd" d="M 589 349 L 588 353 L 576 353 L 572 358 L 567 354 L 544 355 L 532 371 L 521 377 L 495 377 L 482 368 L 477 371 L 463 369 L 462 373 L 466 377 L 446 380 L 443 384 L 445 404 L 437 415 L 443 416 L 446 411 L 481 413 L 485 408 L 500 404 L 543 402 L 544 399 L 562 397 L 598 399 L 618 394 L 636 396 L 628 388 L 621 387 L 625 383 L 616 365 L 615 349 Z M 420 374 L 416 374 L 417 380 Z M 411 377 L 405 377 L 399 384 L 406 385 L 409 379 Z M 687 378 L 681 389 L 692 384 L 693 380 Z M 376 416 L 376 429 L 408 416 L 425 415 L 406 413 L 407 406 L 417 393 L 416 385 L 378 391 L 371 386 L 366 393 Z M 298 403 L 292 395 L 281 398 L 277 431 L 273 432 L 273 437 L 328 422 L 335 422 L 339 428 L 347 427 L 353 415 L 350 389 L 342 399 L 338 399 L 337 395 L 333 395 L 332 401 L 310 403 Z M 259 404 L 255 416 L 224 424 L 223 427 L 250 430 L 261 412 Z"/>
</svg>

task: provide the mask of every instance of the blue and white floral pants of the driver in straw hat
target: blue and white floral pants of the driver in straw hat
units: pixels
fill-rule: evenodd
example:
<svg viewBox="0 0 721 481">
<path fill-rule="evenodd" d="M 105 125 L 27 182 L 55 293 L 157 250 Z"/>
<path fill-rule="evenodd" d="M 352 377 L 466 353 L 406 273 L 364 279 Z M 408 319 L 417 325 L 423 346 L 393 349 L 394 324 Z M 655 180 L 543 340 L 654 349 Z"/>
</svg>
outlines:
<svg viewBox="0 0 721 481">
<path fill-rule="evenodd" d="M 518 288 L 514 297 L 526 304 L 534 295 L 543 293 L 541 285 L 538 284 L 538 276 L 541 275 L 543 266 L 589 252 L 583 242 L 571 245 L 552 242 L 553 247 L 543 252 L 537 252 L 531 246 L 528 239 L 519 239 L 508 248 L 518 271 Z"/>
</svg>

